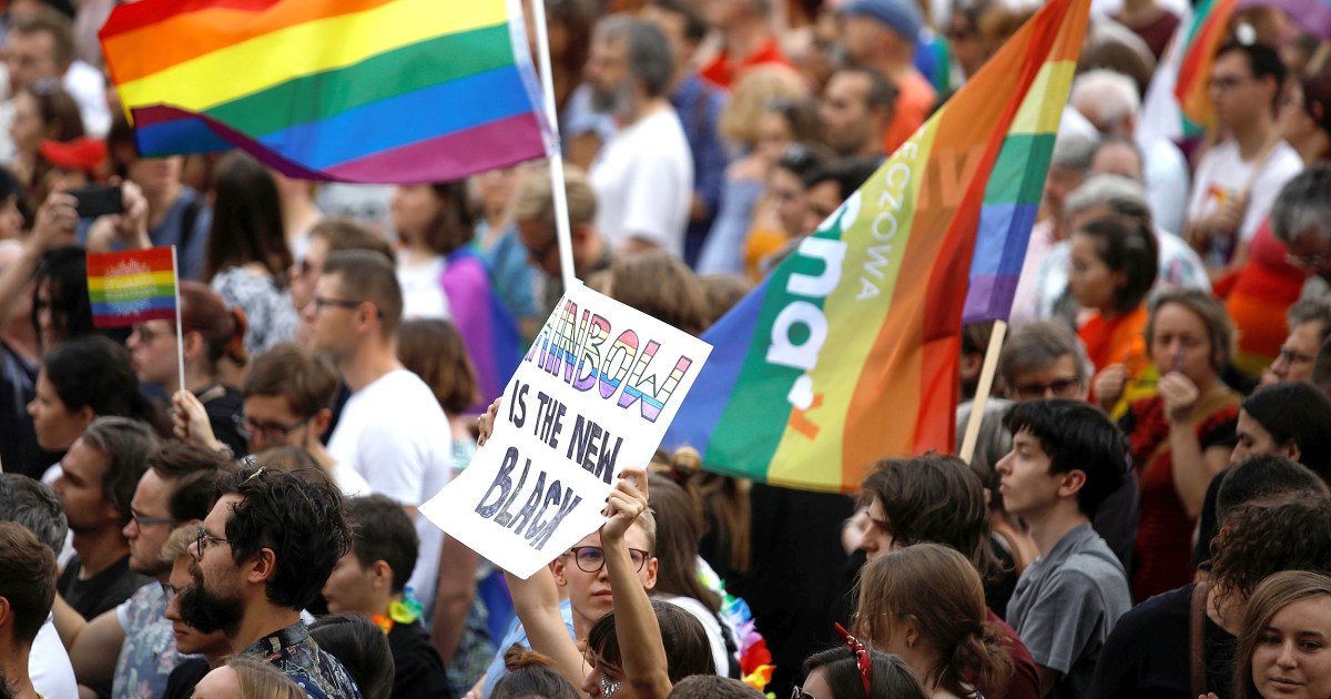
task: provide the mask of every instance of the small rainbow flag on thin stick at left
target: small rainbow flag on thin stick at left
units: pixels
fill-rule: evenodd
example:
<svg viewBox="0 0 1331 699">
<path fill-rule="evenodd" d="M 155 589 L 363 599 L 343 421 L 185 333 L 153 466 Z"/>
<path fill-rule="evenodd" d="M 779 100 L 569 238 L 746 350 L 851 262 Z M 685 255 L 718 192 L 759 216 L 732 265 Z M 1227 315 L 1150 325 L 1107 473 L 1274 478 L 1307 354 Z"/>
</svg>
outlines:
<svg viewBox="0 0 1331 699">
<path fill-rule="evenodd" d="M 97 328 L 174 320 L 176 285 L 174 248 L 88 253 L 88 298 Z"/>
</svg>

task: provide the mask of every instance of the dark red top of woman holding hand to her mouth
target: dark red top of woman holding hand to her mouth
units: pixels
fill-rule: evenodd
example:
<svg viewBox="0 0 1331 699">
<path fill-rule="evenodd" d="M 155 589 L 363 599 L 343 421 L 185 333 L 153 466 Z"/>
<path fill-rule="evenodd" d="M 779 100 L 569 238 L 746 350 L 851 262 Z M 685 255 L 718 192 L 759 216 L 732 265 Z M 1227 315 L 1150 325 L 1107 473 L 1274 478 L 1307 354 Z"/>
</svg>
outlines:
<svg viewBox="0 0 1331 699">
<path fill-rule="evenodd" d="M 1197 438 L 1205 453 L 1213 446 L 1234 443 L 1242 395 L 1227 391 L 1199 410 Z M 1193 582 L 1193 527 L 1174 487 L 1174 455 L 1169 447 L 1169 418 L 1159 397 L 1134 402 L 1119 422 L 1127 434 L 1133 469 L 1141 479 L 1137 545 L 1133 549 L 1133 602 L 1182 587 Z"/>
</svg>

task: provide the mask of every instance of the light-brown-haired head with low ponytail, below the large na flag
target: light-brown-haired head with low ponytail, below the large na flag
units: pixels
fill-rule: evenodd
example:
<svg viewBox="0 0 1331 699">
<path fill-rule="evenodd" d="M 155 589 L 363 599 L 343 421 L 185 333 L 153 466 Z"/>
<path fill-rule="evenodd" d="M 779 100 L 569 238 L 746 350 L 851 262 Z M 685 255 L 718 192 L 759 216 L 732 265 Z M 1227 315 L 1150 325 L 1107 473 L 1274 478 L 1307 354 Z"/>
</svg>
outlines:
<svg viewBox="0 0 1331 699">
<path fill-rule="evenodd" d="M 954 549 L 882 554 L 865 565 L 857 595 L 856 634 L 900 655 L 929 696 L 997 696 L 1008 684 L 1012 656 L 986 619 L 984 583 Z"/>
</svg>

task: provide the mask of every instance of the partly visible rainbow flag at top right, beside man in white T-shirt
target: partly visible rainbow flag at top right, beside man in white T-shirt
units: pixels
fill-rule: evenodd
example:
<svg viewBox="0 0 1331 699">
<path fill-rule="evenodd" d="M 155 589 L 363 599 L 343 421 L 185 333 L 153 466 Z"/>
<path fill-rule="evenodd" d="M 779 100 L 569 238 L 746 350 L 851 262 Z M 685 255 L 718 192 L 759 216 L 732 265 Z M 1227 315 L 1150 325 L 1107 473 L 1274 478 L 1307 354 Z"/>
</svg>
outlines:
<svg viewBox="0 0 1331 699">
<path fill-rule="evenodd" d="M 1217 128 L 1209 89 L 1211 67 L 1215 64 L 1215 49 L 1225 43 L 1230 17 L 1236 7 L 1238 0 L 1202 0 L 1191 21 L 1181 23 L 1179 33 L 1174 37 L 1179 44 L 1174 97 L 1183 117 L 1185 137 L 1201 136 Z"/>
</svg>

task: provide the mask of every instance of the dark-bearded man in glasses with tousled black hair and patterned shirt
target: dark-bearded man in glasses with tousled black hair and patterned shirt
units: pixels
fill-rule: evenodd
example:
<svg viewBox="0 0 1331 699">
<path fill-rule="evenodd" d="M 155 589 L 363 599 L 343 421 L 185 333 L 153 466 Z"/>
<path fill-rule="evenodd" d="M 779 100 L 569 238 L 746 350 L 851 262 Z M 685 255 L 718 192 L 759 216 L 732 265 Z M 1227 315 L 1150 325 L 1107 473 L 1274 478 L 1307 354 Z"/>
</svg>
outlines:
<svg viewBox="0 0 1331 699">
<path fill-rule="evenodd" d="M 180 618 L 222 631 L 233 650 L 268 660 L 314 699 L 361 699 L 346 667 L 301 623 L 351 546 L 342 497 L 309 478 L 260 467 L 220 479 L 190 551 L 194 583 L 180 594 Z"/>
</svg>

